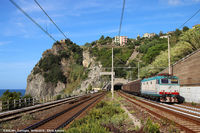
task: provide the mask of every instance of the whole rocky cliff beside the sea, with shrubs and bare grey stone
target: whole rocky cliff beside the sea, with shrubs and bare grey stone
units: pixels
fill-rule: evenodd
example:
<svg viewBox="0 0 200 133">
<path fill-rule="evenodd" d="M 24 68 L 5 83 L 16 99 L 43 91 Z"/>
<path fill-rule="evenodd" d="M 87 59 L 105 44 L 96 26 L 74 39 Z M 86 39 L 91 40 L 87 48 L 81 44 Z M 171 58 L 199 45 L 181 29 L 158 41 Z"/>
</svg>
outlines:
<svg viewBox="0 0 200 133">
<path fill-rule="evenodd" d="M 89 86 L 99 88 L 100 62 L 95 62 L 89 51 L 71 42 L 54 43 L 42 54 L 27 78 L 26 94 L 42 98 L 58 94 L 85 93 Z"/>
</svg>

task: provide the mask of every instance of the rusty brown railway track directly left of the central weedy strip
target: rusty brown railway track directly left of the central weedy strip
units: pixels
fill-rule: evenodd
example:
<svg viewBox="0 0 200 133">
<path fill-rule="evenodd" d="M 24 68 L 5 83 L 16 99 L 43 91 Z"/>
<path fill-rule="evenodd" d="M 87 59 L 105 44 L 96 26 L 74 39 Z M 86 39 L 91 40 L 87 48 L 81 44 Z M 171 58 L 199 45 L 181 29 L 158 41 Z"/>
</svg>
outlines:
<svg viewBox="0 0 200 133">
<path fill-rule="evenodd" d="M 96 103 L 100 98 L 104 96 L 105 92 L 97 93 L 86 99 L 81 99 L 75 103 L 71 103 L 67 108 L 59 111 L 46 119 L 43 119 L 37 123 L 34 123 L 22 130 L 18 130 L 17 133 L 24 132 L 56 132 L 60 128 L 65 128 L 76 117 L 82 114 L 87 108 Z"/>
</svg>

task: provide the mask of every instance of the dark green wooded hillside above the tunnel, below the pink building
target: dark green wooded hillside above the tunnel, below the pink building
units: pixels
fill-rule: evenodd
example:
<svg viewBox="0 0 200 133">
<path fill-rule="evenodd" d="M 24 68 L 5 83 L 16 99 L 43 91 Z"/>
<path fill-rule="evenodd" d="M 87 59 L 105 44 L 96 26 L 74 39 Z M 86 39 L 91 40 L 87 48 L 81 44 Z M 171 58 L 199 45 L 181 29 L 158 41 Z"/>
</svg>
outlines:
<svg viewBox="0 0 200 133">
<path fill-rule="evenodd" d="M 85 49 L 88 49 L 90 54 L 96 57 L 96 61 L 101 62 L 104 71 L 111 71 L 112 42 L 108 38 L 110 37 L 104 39 L 102 36 L 99 40 L 85 44 Z M 142 62 L 141 66 L 145 66 L 166 49 L 167 39 L 160 39 L 158 35 L 153 38 L 128 39 L 124 47 L 114 45 L 115 77 L 137 79 L 138 61 Z"/>
</svg>

